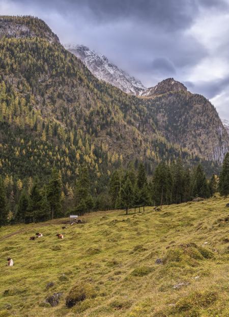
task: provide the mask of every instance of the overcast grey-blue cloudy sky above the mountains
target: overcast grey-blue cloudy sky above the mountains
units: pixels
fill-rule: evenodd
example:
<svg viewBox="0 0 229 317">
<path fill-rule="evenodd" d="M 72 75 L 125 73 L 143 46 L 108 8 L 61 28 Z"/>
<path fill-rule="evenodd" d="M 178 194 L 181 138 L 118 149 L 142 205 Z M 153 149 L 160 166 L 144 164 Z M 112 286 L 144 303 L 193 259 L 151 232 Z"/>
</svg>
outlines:
<svg viewBox="0 0 229 317">
<path fill-rule="evenodd" d="M 38 16 L 146 87 L 174 77 L 229 120 L 229 0 L 0 0 L 0 13 Z"/>
</svg>

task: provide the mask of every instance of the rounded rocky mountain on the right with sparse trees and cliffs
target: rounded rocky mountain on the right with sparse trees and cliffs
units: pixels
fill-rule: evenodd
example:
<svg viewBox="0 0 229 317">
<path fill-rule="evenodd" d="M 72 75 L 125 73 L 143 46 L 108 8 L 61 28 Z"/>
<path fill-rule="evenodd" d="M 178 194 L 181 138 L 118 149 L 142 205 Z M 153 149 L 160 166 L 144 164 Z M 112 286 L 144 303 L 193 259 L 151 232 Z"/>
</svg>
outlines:
<svg viewBox="0 0 229 317">
<path fill-rule="evenodd" d="M 173 78 L 152 88 L 148 110 L 154 112 L 166 139 L 191 151 L 222 161 L 228 151 L 228 134 L 215 107 L 202 95 L 191 94 Z"/>
</svg>

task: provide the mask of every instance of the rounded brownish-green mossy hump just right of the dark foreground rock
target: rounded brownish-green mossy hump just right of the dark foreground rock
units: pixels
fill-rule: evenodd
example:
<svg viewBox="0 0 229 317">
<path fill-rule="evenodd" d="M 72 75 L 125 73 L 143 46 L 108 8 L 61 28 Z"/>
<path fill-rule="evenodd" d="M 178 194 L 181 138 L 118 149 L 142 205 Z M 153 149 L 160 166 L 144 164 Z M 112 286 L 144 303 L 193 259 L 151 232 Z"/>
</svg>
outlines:
<svg viewBox="0 0 229 317">
<path fill-rule="evenodd" d="M 78 283 L 72 287 L 66 297 L 66 306 L 68 308 L 75 306 L 78 302 L 82 302 L 88 298 L 96 296 L 94 286 L 90 283 Z"/>
</svg>

